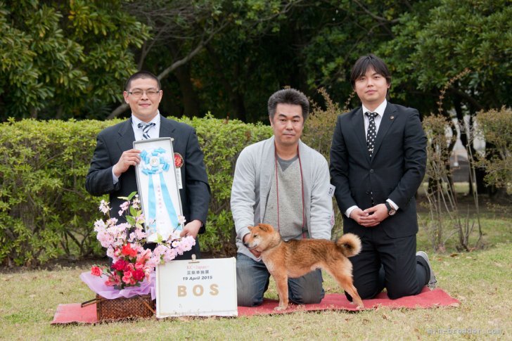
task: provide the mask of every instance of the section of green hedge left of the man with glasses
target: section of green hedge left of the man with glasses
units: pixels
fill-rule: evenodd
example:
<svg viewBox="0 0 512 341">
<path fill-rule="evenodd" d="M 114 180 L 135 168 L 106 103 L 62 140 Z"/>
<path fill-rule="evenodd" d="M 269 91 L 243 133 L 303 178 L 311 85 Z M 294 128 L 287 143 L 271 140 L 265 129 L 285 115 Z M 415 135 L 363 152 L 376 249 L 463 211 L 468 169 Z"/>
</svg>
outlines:
<svg viewBox="0 0 512 341">
<path fill-rule="evenodd" d="M 95 136 L 113 122 L 23 120 L 0 126 L 0 262 L 88 255 L 93 199 L 84 188 Z"/>
</svg>

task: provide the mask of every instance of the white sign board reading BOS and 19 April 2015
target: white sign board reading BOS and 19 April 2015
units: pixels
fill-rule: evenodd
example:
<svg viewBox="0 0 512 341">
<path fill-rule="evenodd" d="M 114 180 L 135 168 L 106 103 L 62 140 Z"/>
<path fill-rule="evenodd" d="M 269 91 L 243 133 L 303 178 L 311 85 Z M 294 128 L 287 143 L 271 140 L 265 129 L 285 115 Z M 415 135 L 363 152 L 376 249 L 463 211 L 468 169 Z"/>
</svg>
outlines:
<svg viewBox="0 0 512 341">
<path fill-rule="evenodd" d="M 158 265 L 156 316 L 238 316 L 236 259 L 173 260 Z"/>
</svg>

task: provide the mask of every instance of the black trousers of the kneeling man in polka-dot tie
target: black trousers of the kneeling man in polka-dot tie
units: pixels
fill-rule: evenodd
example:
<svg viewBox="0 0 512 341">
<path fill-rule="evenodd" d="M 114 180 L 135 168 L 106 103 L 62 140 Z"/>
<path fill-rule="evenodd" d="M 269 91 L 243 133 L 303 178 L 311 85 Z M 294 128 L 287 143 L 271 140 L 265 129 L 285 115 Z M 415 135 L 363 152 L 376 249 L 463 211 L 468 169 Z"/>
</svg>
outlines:
<svg viewBox="0 0 512 341">
<path fill-rule="evenodd" d="M 416 257 L 416 235 L 390 238 L 376 226 L 367 228 L 359 238 L 362 250 L 349 259 L 354 286 L 363 300 L 375 297 L 383 288 L 392 300 L 417 295 L 428 283 L 428 264 Z M 352 300 L 350 295 L 347 297 Z"/>
</svg>

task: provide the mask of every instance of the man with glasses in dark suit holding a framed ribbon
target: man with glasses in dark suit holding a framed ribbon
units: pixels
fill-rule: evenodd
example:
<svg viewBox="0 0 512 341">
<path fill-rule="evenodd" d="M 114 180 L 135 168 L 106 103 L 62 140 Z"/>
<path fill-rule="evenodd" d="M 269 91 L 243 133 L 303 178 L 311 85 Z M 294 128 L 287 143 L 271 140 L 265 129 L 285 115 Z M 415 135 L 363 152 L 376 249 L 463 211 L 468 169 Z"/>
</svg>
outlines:
<svg viewBox="0 0 512 341">
<path fill-rule="evenodd" d="M 124 200 L 118 197 L 137 191 L 135 165 L 141 161 L 141 150 L 134 149 L 133 142 L 172 138 L 177 174 L 181 176 L 179 194 L 186 219 L 181 236 L 196 238 L 196 246 L 180 259 L 190 259 L 193 254 L 199 256 L 197 235 L 205 232 L 210 186 L 196 131 L 188 124 L 160 115 L 158 105 L 162 100 L 162 88 L 151 72 L 140 71 L 129 77 L 123 96 L 132 109 L 132 117 L 98 134 L 85 188 L 92 195 L 108 193 L 113 208 L 110 217 L 119 219 L 117 211 Z"/>
</svg>

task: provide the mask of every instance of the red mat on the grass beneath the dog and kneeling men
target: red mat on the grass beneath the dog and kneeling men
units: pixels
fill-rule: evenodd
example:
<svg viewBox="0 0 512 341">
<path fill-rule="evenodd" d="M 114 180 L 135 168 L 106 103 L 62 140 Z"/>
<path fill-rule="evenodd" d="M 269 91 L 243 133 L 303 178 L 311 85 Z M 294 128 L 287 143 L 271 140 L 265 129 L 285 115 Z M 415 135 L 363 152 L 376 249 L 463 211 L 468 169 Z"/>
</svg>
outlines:
<svg viewBox="0 0 512 341">
<path fill-rule="evenodd" d="M 459 301 L 437 288 L 428 290 L 427 287 L 419 295 L 407 296 L 398 300 L 390 300 L 385 292 L 381 292 L 373 300 L 363 300 L 364 309 L 376 309 L 377 307 L 390 308 L 432 308 L 432 307 L 459 307 Z M 293 311 L 319 311 L 319 310 L 347 310 L 357 311 L 343 294 L 329 294 L 319 304 L 290 305 L 286 311 L 275 311 L 278 302 L 276 300 L 263 301 L 260 307 L 238 307 L 238 316 L 252 316 L 264 314 L 288 314 Z M 97 323 L 96 304 L 81 308 L 79 303 L 59 304 L 51 324 L 65 323 Z"/>
</svg>

